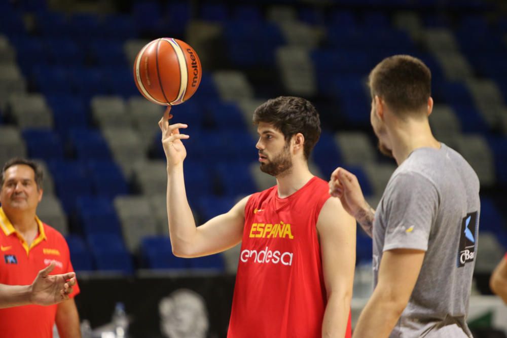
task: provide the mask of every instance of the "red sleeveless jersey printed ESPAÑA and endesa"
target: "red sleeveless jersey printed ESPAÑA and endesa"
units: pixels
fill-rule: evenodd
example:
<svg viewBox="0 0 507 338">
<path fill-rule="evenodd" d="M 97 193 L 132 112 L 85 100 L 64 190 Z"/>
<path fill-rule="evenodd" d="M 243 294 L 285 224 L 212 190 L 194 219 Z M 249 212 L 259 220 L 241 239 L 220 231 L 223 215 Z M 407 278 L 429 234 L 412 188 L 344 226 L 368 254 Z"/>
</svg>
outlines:
<svg viewBox="0 0 507 338">
<path fill-rule="evenodd" d="M 228 338 L 322 336 L 327 294 L 316 224 L 328 192 L 313 177 L 287 198 L 273 186 L 248 199 Z"/>
</svg>

